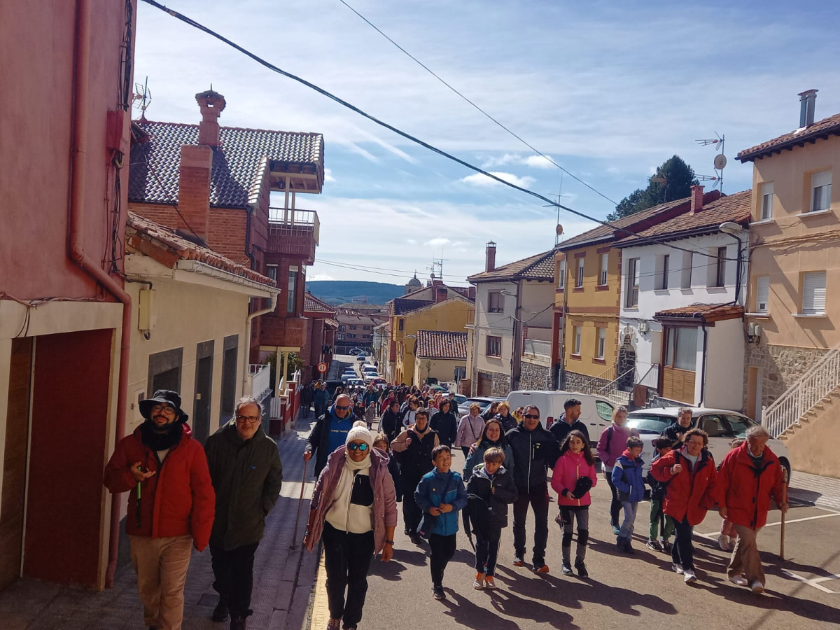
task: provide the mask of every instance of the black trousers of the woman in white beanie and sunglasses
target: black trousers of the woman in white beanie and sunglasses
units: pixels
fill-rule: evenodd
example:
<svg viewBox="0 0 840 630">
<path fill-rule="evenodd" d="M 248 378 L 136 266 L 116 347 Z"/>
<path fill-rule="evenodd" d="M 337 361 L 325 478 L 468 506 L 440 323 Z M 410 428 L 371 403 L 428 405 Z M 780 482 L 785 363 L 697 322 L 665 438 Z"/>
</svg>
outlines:
<svg viewBox="0 0 840 630">
<path fill-rule="evenodd" d="M 367 572 L 374 550 L 373 532 L 347 533 L 324 522 L 322 540 L 329 616 L 344 617 L 344 627 L 355 627 L 365 606 Z"/>
</svg>

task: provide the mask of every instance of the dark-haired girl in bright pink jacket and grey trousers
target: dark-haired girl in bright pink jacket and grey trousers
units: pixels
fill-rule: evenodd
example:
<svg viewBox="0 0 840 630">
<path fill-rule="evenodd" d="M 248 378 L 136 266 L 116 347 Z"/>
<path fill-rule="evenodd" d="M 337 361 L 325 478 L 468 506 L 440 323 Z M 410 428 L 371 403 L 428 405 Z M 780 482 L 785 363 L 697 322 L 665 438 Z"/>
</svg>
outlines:
<svg viewBox="0 0 840 630">
<path fill-rule="evenodd" d="M 563 519 L 563 575 L 572 575 L 572 529 L 577 520 L 578 546 L 575 569 L 580 577 L 587 577 L 584 559 L 589 540 L 589 491 L 598 480 L 595 458 L 589 449 L 589 440 L 580 431 L 571 431 L 560 445 L 560 456 L 552 469 L 551 487 L 557 492 L 560 517 Z"/>
</svg>

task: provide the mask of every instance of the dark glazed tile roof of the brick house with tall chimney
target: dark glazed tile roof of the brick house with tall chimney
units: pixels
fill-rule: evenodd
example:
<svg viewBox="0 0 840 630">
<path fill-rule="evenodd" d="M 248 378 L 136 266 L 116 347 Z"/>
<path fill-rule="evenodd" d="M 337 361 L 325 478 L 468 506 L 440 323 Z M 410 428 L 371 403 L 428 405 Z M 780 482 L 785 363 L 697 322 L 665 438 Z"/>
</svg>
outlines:
<svg viewBox="0 0 840 630">
<path fill-rule="evenodd" d="M 135 127 L 148 140 L 131 145 L 129 201 L 175 202 L 181 145 L 198 144 L 198 125 L 138 121 L 132 129 L 139 136 Z M 322 134 L 220 127 L 219 142 L 213 149 L 211 206 L 248 207 L 269 161 L 312 165 L 323 172 Z"/>
</svg>

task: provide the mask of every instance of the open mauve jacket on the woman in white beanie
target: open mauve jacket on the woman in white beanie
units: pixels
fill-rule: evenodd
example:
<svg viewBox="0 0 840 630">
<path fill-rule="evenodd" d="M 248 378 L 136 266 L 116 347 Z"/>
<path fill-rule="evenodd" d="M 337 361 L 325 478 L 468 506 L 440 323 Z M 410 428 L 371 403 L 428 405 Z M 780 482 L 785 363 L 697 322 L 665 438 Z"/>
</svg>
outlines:
<svg viewBox="0 0 840 630">
<path fill-rule="evenodd" d="M 327 459 L 327 465 L 315 482 L 312 492 L 311 510 L 315 510 L 315 521 L 312 523 L 307 550 L 312 551 L 323 533 L 323 522 L 327 510 L 333 505 L 335 486 L 339 485 L 341 470 L 344 468 L 344 450 L 342 446 L 335 449 Z M 370 485 L 373 486 L 373 538 L 376 554 L 385 547 L 385 528 L 396 527 L 396 492 L 394 480 L 388 472 L 388 456 L 380 449 L 370 449 Z"/>
</svg>

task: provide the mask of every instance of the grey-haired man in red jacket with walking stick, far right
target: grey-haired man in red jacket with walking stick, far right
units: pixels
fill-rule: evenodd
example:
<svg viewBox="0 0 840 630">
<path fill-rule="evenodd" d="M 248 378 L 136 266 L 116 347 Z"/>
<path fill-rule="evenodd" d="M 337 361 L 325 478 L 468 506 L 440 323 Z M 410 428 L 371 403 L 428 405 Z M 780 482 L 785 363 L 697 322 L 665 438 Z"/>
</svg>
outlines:
<svg viewBox="0 0 840 630">
<path fill-rule="evenodd" d="M 729 581 L 749 586 L 756 595 L 764 592 L 764 568 L 755 538 L 767 524 L 770 496 L 782 513 L 784 472 L 779 458 L 767 448 L 770 434 L 764 427 L 747 429 L 747 441 L 723 458 L 718 473 L 717 496 L 721 517 L 728 518 L 738 532 L 738 542 L 727 567 Z"/>
</svg>

